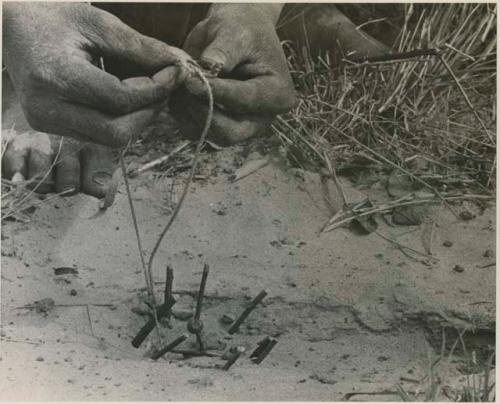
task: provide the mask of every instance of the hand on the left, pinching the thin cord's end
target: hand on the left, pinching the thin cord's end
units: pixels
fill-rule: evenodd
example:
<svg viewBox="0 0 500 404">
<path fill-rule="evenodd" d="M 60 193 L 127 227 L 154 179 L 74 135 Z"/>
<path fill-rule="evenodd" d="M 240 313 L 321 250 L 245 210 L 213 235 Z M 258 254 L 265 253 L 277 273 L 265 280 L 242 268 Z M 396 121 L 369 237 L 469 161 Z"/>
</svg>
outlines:
<svg viewBox="0 0 500 404">
<path fill-rule="evenodd" d="M 99 57 L 154 75 L 120 81 L 97 67 Z M 176 64 L 187 59 L 85 3 L 3 5 L 3 60 L 37 131 L 124 146 L 182 82 Z"/>
</svg>

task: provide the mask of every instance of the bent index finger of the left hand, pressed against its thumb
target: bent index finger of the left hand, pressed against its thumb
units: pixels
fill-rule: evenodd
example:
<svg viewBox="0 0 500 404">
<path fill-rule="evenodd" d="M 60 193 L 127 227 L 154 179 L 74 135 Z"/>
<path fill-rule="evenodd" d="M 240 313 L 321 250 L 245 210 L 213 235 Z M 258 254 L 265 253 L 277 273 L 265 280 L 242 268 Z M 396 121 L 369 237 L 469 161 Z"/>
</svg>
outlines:
<svg viewBox="0 0 500 404">
<path fill-rule="evenodd" d="M 110 114 L 127 114 L 165 100 L 183 80 L 177 66 L 162 69 L 153 77 L 120 81 L 81 57 L 61 60 L 57 92 L 65 98 Z"/>
</svg>

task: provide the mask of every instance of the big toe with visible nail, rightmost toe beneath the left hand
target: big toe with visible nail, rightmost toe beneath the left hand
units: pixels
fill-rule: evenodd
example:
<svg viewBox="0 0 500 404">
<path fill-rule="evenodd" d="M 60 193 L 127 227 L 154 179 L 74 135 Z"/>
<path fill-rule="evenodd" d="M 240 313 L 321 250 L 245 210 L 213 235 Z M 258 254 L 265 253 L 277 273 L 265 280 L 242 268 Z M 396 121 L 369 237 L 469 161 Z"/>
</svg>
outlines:
<svg viewBox="0 0 500 404">
<path fill-rule="evenodd" d="M 88 144 L 82 150 L 82 190 L 88 195 L 103 198 L 113 175 L 112 150 Z"/>
</svg>

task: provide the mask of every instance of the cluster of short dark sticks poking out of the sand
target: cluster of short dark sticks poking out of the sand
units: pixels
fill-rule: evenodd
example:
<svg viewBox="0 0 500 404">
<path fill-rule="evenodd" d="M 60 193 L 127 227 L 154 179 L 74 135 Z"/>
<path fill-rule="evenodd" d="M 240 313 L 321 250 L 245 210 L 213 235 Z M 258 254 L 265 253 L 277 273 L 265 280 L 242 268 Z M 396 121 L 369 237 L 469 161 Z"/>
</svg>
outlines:
<svg viewBox="0 0 500 404">
<path fill-rule="evenodd" d="M 200 282 L 200 288 L 198 293 L 196 294 L 196 306 L 194 310 L 193 316 L 189 319 L 187 323 L 187 330 L 190 334 L 194 334 L 196 336 L 196 342 L 198 345 L 197 350 L 176 350 L 180 344 L 186 341 L 189 338 L 189 334 L 182 334 L 181 336 L 175 338 L 173 341 L 167 343 L 160 349 L 153 352 L 151 355 L 151 359 L 158 360 L 163 357 L 167 352 L 182 354 L 185 357 L 192 356 L 209 356 L 209 357 L 222 357 L 226 359 L 226 363 L 222 366 L 223 370 L 228 370 L 238 358 L 245 352 L 245 348 L 241 346 L 232 347 L 226 353 L 222 354 L 219 352 L 214 352 L 208 350 L 208 344 L 203 335 L 204 324 L 201 320 L 201 311 L 203 305 L 203 298 L 205 295 L 205 288 L 207 285 L 207 279 L 209 274 L 209 266 L 207 264 L 203 267 L 203 273 Z M 172 267 L 167 266 L 166 270 L 166 282 L 165 282 L 165 291 L 164 291 L 164 301 L 161 305 L 156 307 L 156 319 L 154 316 L 146 322 L 146 324 L 140 329 L 139 333 L 132 340 L 132 345 L 135 348 L 139 348 L 141 344 L 144 342 L 146 337 L 153 331 L 153 329 L 157 326 L 158 321 L 166 318 L 170 320 L 172 316 L 172 307 L 175 304 L 175 298 L 173 297 L 173 281 L 174 281 L 174 271 Z M 243 312 L 238 316 L 238 318 L 231 324 L 228 329 L 229 334 L 236 333 L 241 324 L 245 321 L 245 319 L 250 315 L 250 313 L 257 307 L 257 305 L 266 297 L 266 291 L 261 291 L 243 310 Z M 266 356 L 271 352 L 274 346 L 278 343 L 278 340 L 272 337 L 266 337 L 264 340 L 259 342 L 258 347 L 255 351 L 250 355 L 250 358 L 255 364 L 260 364 Z"/>
</svg>

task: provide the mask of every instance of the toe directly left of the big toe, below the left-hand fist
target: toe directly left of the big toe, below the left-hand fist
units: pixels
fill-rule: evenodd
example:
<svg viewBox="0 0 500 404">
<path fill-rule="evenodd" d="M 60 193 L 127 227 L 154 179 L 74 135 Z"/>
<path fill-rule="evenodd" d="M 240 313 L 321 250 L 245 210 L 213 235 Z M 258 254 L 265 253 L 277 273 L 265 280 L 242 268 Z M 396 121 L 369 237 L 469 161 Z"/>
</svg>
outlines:
<svg viewBox="0 0 500 404">
<path fill-rule="evenodd" d="M 59 158 L 55 163 L 56 192 L 64 192 L 65 196 L 80 191 L 80 150 L 81 143 L 64 138 Z"/>
</svg>

